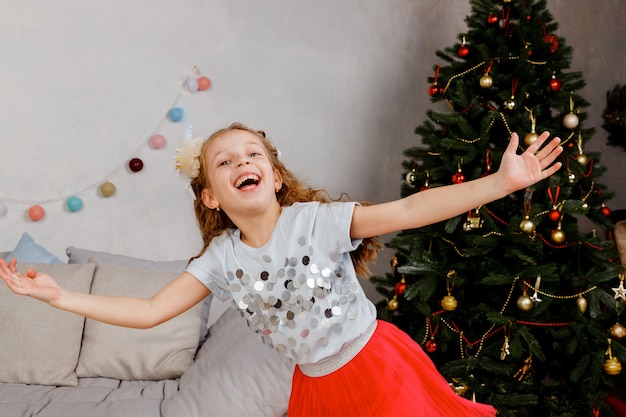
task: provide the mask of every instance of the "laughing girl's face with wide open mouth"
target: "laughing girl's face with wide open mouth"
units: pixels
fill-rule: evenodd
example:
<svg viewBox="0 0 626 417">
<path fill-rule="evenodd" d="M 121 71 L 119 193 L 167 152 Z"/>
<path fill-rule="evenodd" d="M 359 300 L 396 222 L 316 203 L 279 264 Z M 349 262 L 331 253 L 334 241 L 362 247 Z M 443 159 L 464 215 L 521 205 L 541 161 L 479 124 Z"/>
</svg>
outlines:
<svg viewBox="0 0 626 417">
<path fill-rule="evenodd" d="M 207 207 L 219 207 L 231 216 L 277 203 L 280 173 L 253 133 L 234 129 L 213 138 L 207 145 L 204 165 L 208 185 L 202 191 L 202 201 Z"/>
</svg>

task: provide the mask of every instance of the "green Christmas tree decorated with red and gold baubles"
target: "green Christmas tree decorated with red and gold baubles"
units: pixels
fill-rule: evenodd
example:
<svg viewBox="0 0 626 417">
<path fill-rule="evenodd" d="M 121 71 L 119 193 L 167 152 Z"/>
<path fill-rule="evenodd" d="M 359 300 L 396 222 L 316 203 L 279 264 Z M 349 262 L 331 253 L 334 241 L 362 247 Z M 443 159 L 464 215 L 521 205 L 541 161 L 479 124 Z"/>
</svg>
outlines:
<svg viewBox="0 0 626 417">
<path fill-rule="evenodd" d="M 490 175 L 512 132 L 520 151 L 543 131 L 559 136 L 563 168 L 394 237 L 391 272 L 373 278 L 379 315 L 421 343 L 459 395 L 501 416 L 613 415 L 626 290 L 606 238 L 613 194 L 600 154 L 585 150 L 583 75 L 568 70 L 572 48 L 545 1 L 470 3 L 466 33 L 437 52 L 427 91 L 443 110 L 416 128 L 401 194 Z M 583 216 L 597 228 L 582 231 Z"/>
</svg>

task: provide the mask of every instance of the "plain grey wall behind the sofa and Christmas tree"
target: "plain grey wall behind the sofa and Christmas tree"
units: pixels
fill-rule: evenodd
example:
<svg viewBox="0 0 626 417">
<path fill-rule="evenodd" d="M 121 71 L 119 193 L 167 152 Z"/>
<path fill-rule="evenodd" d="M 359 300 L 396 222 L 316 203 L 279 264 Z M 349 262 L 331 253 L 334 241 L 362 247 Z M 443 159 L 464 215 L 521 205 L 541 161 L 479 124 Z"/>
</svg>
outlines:
<svg viewBox="0 0 626 417">
<path fill-rule="evenodd" d="M 598 128 L 605 182 L 626 208 L 626 154 L 600 128 L 605 92 L 626 83 L 622 0 L 550 0 Z M 238 120 L 264 129 L 303 179 L 373 202 L 399 195 L 402 150 L 432 107 L 434 52 L 465 29 L 467 1 L 3 0 L 0 5 L 0 249 L 24 231 L 57 256 L 68 245 L 157 259 L 199 249 L 181 138 Z M 194 66 L 213 82 L 189 94 Z M 180 103 L 188 117 L 164 116 Z M 151 149 L 152 133 L 168 145 Z M 133 156 L 142 172 L 125 167 Z M 105 179 L 117 194 L 98 195 Z M 84 208 L 69 213 L 77 194 Z M 47 216 L 25 211 L 41 202 Z M 64 258 L 63 258 L 64 259 Z M 387 269 L 387 262 L 379 268 Z"/>
</svg>

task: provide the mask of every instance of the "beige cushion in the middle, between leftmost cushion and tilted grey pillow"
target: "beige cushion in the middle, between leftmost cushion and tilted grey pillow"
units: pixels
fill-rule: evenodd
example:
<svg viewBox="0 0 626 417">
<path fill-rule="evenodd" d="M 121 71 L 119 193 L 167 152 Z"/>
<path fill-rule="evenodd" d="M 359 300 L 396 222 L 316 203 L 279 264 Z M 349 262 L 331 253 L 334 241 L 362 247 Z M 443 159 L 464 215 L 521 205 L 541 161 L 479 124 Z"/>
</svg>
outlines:
<svg viewBox="0 0 626 417">
<path fill-rule="evenodd" d="M 178 273 L 96 262 L 91 292 L 151 297 Z M 122 380 L 177 378 L 198 347 L 202 303 L 152 329 L 129 329 L 87 319 L 76 374 Z"/>
</svg>

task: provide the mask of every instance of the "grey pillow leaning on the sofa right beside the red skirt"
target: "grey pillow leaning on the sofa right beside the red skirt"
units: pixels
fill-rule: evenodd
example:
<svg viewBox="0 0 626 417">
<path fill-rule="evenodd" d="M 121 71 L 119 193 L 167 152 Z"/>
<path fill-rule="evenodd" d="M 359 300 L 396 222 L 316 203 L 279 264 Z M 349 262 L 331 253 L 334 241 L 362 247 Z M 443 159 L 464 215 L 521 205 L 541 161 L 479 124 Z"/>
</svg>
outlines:
<svg viewBox="0 0 626 417">
<path fill-rule="evenodd" d="M 263 345 L 238 310 L 211 326 L 163 417 L 276 417 L 287 411 L 294 363 Z"/>
</svg>

